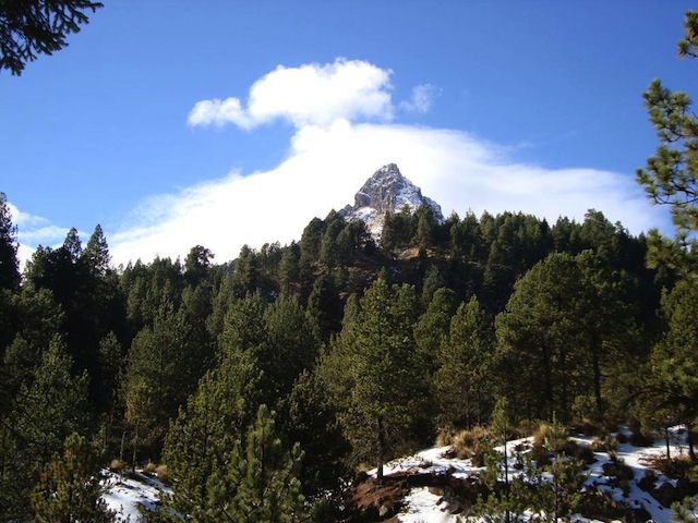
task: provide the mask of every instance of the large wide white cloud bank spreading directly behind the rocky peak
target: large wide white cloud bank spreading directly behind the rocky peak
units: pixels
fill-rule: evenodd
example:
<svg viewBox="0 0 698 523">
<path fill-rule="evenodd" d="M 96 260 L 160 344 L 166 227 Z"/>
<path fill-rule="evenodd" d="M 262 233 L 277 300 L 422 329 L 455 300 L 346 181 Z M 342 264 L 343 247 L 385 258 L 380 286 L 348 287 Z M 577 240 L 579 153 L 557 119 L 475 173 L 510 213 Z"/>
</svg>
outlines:
<svg viewBox="0 0 698 523">
<path fill-rule="evenodd" d="M 298 240 L 313 217 L 353 203 L 363 182 L 388 162 L 396 162 L 445 215 L 521 210 L 553 223 L 561 215 L 582 220 L 595 208 L 634 233 L 665 220 L 629 175 L 518 163 L 501 147 L 460 131 L 338 120 L 299 129 L 287 159 L 273 170 L 234 172 L 148 200 L 147 216 L 111 236 L 113 259 L 184 256 L 202 244 L 222 263 L 245 243 L 258 248 Z"/>
</svg>

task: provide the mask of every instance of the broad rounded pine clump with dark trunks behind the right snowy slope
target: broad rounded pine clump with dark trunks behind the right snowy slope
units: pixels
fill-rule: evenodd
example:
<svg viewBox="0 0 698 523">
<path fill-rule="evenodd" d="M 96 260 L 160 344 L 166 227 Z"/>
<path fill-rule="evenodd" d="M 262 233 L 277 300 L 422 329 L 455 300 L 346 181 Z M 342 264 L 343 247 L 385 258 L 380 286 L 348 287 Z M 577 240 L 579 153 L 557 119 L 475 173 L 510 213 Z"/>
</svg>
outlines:
<svg viewBox="0 0 698 523">
<path fill-rule="evenodd" d="M 589 253 L 553 254 L 515 287 L 497 317 L 498 365 L 525 417 L 569 417 L 577 396 L 603 408 L 602 369 L 627 351 L 634 325 L 622 289 Z M 517 372 L 513 373 L 512 369 Z"/>
</svg>

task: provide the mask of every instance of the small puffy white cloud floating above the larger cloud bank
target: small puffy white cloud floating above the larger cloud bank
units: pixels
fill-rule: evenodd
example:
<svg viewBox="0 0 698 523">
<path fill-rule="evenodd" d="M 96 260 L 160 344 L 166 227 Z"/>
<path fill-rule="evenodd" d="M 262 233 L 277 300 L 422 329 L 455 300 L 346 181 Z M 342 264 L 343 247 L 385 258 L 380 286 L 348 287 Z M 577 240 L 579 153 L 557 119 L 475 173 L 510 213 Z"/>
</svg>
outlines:
<svg viewBox="0 0 698 523">
<path fill-rule="evenodd" d="M 189 124 L 252 129 L 276 119 L 297 127 L 328 125 L 338 119 L 390 121 L 390 74 L 360 60 L 279 65 L 252 85 L 246 108 L 238 98 L 202 100 L 190 112 Z"/>
</svg>

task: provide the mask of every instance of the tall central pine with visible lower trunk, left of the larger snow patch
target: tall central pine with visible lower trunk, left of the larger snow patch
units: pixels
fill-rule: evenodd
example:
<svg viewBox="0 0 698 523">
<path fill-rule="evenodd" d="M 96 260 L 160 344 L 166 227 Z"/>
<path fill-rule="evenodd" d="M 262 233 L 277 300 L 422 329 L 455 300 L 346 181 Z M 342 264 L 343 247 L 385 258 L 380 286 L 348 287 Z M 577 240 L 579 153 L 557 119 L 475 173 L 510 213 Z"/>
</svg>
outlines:
<svg viewBox="0 0 698 523">
<path fill-rule="evenodd" d="M 346 321 L 321 370 L 356 459 L 383 463 L 425 412 L 425 365 L 411 329 L 414 289 L 378 279 L 360 302 L 356 321 Z M 347 314 L 345 314 L 347 318 Z"/>
</svg>

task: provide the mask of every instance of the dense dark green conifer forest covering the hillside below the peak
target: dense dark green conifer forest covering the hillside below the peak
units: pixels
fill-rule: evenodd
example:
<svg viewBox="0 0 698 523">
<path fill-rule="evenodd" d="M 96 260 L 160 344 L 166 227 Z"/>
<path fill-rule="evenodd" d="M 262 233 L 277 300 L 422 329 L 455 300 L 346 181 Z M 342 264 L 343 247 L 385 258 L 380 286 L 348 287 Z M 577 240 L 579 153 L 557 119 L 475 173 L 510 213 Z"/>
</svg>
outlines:
<svg viewBox="0 0 698 523">
<path fill-rule="evenodd" d="M 84 246 L 71 230 L 39 247 L 20 278 L 0 204 L 3 520 L 44 510 L 50 482 L 105 513 L 89 463 L 151 462 L 174 482 L 164 507 L 196 521 L 335 521 L 357 466 L 380 477 L 490 425 L 500 398 L 521 430 L 693 435 L 695 402 L 675 400 L 695 289 L 647 269 L 646 238 L 600 211 L 438 223 L 422 207 L 389 215 L 380 244 L 332 212 L 232 262 L 197 245 L 119 268 L 97 226 Z"/>
</svg>

